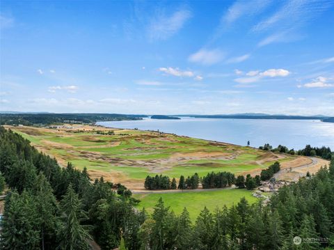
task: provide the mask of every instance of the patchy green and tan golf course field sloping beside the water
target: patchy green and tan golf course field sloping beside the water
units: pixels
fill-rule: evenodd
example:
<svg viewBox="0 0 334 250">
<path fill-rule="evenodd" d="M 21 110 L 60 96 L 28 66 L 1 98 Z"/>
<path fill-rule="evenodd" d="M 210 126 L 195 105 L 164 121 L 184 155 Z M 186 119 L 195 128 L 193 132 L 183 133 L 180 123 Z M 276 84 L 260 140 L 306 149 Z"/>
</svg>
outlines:
<svg viewBox="0 0 334 250">
<path fill-rule="evenodd" d="M 308 164 L 308 157 L 267 153 L 255 148 L 205 141 L 174 134 L 141 130 L 120 130 L 88 125 L 57 128 L 6 126 L 65 166 L 87 167 L 93 178 L 104 176 L 130 189 L 143 189 L 147 175 L 166 174 L 170 178 L 211 171 L 235 174 L 260 173 L 275 161 L 283 168 Z M 97 134 L 97 131 L 114 135 Z"/>
</svg>

